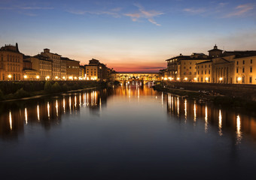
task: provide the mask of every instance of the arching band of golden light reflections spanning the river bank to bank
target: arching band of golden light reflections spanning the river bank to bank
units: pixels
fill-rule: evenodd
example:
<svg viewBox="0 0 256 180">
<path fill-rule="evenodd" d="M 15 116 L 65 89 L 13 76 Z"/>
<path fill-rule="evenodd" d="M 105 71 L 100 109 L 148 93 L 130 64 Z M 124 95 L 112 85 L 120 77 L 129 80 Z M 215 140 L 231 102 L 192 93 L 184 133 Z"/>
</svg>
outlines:
<svg viewBox="0 0 256 180">
<path fill-rule="evenodd" d="M 236 144 L 241 143 L 246 135 L 256 139 L 256 120 L 252 116 L 220 109 L 212 104 L 202 104 L 183 97 L 154 92 L 153 89 L 140 86 L 139 83 L 134 86 L 126 84 L 117 89 L 81 91 L 57 97 L 2 103 L 0 138 L 17 137 L 19 133 L 23 133 L 24 124 L 41 125 L 49 130 L 59 125 L 63 116 L 77 115 L 81 109 L 89 110 L 92 115 L 101 115 L 102 108 L 107 107 L 108 97 L 112 95 L 136 104 L 146 99 L 149 104 L 166 108 L 172 119 L 178 119 L 186 126 L 192 123 L 194 127 L 202 127 L 205 133 L 216 133 L 221 137 L 232 134 Z"/>
</svg>

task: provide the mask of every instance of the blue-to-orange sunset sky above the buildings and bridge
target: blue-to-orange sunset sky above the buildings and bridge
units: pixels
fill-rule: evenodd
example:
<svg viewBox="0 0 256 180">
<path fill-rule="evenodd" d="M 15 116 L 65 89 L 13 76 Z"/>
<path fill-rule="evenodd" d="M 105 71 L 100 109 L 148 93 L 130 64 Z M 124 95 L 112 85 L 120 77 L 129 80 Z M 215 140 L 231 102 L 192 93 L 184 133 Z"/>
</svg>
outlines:
<svg viewBox="0 0 256 180">
<path fill-rule="evenodd" d="M 44 48 L 118 72 L 158 72 L 180 53 L 256 50 L 255 0 L 0 0 L 0 46 Z"/>
</svg>

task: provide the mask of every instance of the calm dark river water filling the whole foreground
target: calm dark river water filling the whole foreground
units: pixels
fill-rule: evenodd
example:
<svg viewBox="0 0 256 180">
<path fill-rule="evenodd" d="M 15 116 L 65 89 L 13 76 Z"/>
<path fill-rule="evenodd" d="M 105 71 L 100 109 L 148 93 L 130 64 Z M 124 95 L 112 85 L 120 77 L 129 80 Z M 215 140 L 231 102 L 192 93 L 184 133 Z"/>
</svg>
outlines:
<svg viewBox="0 0 256 180">
<path fill-rule="evenodd" d="M 0 104 L 1 179 L 256 179 L 256 118 L 144 86 Z"/>
</svg>

